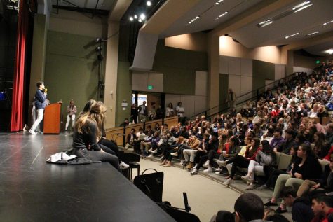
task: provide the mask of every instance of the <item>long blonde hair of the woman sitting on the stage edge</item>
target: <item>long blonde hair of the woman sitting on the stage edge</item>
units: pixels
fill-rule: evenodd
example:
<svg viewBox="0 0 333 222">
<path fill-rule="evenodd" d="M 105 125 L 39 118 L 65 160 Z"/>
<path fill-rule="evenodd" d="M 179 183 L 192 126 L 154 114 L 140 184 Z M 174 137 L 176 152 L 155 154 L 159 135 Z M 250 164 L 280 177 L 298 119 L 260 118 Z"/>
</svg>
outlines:
<svg viewBox="0 0 333 222">
<path fill-rule="evenodd" d="M 74 129 L 76 132 L 81 134 L 89 133 L 90 129 L 84 127 L 86 123 L 95 123 L 97 125 L 97 138 L 100 139 L 102 137 L 102 125 L 105 119 L 105 112 L 107 108 L 100 101 L 90 101 L 90 110 L 86 110 L 86 112 L 81 113 L 79 118 L 76 120 Z"/>
</svg>

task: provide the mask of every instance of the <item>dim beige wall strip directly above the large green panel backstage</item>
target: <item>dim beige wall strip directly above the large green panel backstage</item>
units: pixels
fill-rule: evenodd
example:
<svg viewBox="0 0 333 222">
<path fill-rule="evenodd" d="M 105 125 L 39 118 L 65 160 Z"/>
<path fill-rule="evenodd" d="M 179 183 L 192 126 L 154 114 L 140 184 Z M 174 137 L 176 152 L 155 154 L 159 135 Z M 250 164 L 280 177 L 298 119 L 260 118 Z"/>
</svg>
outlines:
<svg viewBox="0 0 333 222">
<path fill-rule="evenodd" d="M 95 38 L 106 37 L 107 19 L 97 16 L 92 19 L 82 13 L 59 10 L 59 14 L 50 15 L 49 30 Z"/>
</svg>

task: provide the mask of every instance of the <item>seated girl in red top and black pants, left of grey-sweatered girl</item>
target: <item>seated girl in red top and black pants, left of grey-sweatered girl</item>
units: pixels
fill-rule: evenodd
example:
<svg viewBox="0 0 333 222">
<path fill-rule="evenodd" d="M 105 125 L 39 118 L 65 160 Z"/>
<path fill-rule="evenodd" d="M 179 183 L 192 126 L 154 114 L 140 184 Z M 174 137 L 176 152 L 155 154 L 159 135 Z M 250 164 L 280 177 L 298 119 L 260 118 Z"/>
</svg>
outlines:
<svg viewBox="0 0 333 222">
<path fill-rule="evenodd" d="M 233 178 L 237 172 L 237 167 L 241 168 L 247 168 L 249 167 L 250 160 L 255 160 L 256 155 L 259 151 L 260 146 L 260 139 L 259 138 L 253 138 L 251 141 L 251 146 L 247 148 L 245 152 L 245 157 L 241 155 L 236 155 L 234 158 L 231 158 L 230 160 L 226 160 L 222 163 L 226 167 L 226 165 L 229 165 L 232 163 L 231 167 L 231 173 L 230 176 L 228 176 L 227 180 L 223 183 L 226 186 L 229 186 L 229 184 L 233 181 Z"/>
</svg>

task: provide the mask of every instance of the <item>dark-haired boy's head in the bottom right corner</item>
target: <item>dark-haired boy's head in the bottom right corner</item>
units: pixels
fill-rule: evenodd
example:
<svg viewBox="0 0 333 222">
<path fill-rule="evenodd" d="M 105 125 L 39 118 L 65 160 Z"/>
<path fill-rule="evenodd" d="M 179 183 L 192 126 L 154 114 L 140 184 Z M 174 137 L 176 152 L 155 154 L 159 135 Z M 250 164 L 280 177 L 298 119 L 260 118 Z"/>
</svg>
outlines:
<svg viewBox="0 0 333 222">
<path fill-rule="evenodd" d="M 315 218 L 311 222 L 328 222 L 332 221 L 333 200 L 332 196 L 315 195 L 312 197 L 312 210 Z"/>
</svg>

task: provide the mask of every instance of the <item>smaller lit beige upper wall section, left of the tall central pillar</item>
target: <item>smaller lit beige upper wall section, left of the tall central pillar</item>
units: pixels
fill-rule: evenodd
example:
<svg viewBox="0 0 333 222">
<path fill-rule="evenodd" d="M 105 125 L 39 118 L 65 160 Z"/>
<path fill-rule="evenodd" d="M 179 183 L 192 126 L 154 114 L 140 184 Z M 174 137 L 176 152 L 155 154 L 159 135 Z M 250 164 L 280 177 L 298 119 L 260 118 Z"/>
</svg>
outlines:
<svg viewBox="0 0 333 222">
<path fill-rule="evenodd" d="M 196 32 L 165 38 L 165 46 L 199 52 L 207 51 L 207 34 Z"/>
</svg>

